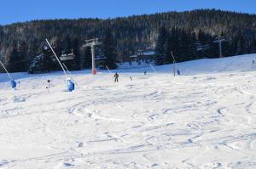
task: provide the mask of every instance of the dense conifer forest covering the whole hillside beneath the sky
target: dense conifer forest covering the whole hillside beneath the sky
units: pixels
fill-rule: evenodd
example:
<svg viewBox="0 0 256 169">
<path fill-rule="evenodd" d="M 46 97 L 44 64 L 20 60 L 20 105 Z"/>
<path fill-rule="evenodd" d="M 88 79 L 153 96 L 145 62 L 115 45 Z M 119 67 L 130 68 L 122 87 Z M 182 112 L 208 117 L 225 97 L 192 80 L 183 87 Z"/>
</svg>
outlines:
<svg viewBox="0 0 256 169">
<path fill-rule="evenodd" d="M 256 15 L 201 9 L 109 20 L 33 20 L 0 25 L 0 54 L 10 71 L 26 71 L 48 38 L 58 55 L 73 48 L 77 59 L 70 66 L 80 70 L 90 66 L 86 61 L 90 52 L 82 48 L 84 40 L 97 37 L 114 45 L 114 52 L 106 52 L 117 57 L 114 60 L 128 60 L 139 49 L 154 48 L 156 63 L 163 65 L 172 62 L 171 52 L 177 61 L 218 57 L 218 44 L 213 41 L 219 36 L 227 40 L 224 56 L 256 53 Z"/>
</svg>

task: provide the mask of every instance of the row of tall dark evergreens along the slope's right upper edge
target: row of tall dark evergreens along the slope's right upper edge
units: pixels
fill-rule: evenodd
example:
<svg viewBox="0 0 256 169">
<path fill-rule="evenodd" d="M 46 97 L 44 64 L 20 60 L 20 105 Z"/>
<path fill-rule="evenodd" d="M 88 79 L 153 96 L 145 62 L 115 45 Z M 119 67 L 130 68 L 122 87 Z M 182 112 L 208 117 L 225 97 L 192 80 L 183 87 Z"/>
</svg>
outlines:
<svg viewBox="0 0 256 169">
<path fill-rule="evenodd" d="M 224 39 L 221 57 L 256 53 L 256 39 L 247 41 L 245 37 L 237 35 L 228 40 L 225 38 L 224 32 L 219 37 Z M 219 37 L 202 30 L 199 30 L 197 34 L 195 31 L 182 28 L 172 28 L 171 31 L 168 31 L 163 26 L 160 28 L 156 41 L 156 64 L 170 64 L 173 61 L 172 57 L 176 57 L 177 62 L 220 57 L 219 43 L 217 42 Z"/>
</svg>

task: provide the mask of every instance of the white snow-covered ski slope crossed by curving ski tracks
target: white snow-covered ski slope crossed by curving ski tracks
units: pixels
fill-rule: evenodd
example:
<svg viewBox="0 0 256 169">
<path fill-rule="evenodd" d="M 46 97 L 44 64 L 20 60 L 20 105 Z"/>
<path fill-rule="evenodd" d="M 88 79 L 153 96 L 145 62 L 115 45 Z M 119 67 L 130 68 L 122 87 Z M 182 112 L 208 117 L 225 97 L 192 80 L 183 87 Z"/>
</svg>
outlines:
<svg viewBox="0 0 256 169">
<path fill-rule="evenodd" d="M 184 62 L 176 77 L 172 65 L 116 70 L 119 83 L 75 71 L 73 93 L 61 72 L 16 73 L 18 90 L 1 74 L 0 168 L 254 169 L 253 59 Z"/>
</svg>

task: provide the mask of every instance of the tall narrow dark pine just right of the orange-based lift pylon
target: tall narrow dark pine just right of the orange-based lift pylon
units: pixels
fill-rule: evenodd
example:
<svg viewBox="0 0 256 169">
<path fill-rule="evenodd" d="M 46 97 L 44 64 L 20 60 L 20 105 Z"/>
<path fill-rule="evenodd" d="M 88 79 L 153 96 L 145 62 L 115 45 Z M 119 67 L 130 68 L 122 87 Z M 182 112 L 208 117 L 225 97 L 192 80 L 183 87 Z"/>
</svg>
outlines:
<svg viewBox="0 0 256 169">
<path fill-rule="evenodd" d="M 110 30 L 107 31 L 103 39 L 103 54 L 105 57 L 103 68 L 106 69 L 106 66 L 108 66 L 109 69 L 116 69 L 118 67 L 116 42 L 113 40 Z"/>
</svg>

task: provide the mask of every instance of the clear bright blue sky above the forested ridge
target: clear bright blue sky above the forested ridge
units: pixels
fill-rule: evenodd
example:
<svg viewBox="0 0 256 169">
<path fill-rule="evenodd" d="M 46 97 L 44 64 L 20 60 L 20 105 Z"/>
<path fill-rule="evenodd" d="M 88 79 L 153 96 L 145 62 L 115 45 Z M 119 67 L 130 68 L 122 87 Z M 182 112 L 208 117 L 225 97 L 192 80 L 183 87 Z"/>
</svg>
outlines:
<svg viewBox="0 0 256 169">
<path fill-rule="evenodd" d="M 41 19 L 106 19 L 197 8 L 256 14 L 256 0 L 2 0 L 0 25 Z"/>
</svg>

